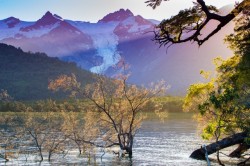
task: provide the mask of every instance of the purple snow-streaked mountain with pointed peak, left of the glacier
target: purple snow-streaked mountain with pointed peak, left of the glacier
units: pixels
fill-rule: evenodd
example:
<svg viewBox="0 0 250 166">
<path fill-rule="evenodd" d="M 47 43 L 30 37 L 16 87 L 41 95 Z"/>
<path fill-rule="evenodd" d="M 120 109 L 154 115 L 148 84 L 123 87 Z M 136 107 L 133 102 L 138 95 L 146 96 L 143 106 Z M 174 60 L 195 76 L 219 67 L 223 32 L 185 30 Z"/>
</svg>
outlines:
<svg viewBox="0 0 250 166">
<path fill-rule="evenodd" d="M 36 22 L 27 24 L 21 21 L 15 27 L 6 26 L 2 20 L 0 27 L 4 33 L 12 32 L 10 36 L 0 35 L 3 36 L 0 38 L 2 43 L 25 51 L 46 52 L 49 56 L 60 57 L 92 48 L 90 36 L 50 12 Z"/>
</svg>

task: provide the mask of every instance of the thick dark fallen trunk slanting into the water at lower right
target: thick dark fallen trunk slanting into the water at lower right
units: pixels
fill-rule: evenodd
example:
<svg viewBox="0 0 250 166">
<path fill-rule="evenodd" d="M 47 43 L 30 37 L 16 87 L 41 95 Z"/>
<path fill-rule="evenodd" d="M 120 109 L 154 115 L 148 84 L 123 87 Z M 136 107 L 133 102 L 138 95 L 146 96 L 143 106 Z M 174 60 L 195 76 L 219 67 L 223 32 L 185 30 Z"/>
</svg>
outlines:
<svg viewBox="0 0 250 166">
<path fill-rule="evenodd" d="M 234 134 L 232 136 L 226 137 L 220 141 L 218 141 L 217 143 L 211 143 L 209 145 L 206 146 L 207 149 L 207 154 L 213 154 L 218 150 L 236 145 L 236 144 L 240 144 L 244 142 L 244 139 L 247 137 L 247 132 L 241 132 L 241 133 L 237 133 Z M 193 159 L 197 159 L 197 160 L 206 160 L 205 157 L 206 151 L 204 148 L 200 148 L 195 150 L 190 157 Z"/>
</svg>

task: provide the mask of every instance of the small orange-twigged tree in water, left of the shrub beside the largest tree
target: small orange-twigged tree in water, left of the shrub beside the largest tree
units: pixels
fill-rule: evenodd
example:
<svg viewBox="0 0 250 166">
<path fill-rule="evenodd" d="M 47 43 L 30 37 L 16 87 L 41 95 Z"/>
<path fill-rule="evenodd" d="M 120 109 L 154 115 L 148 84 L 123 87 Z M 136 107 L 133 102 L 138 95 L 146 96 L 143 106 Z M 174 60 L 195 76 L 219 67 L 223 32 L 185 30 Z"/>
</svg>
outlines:
<svg viewBox="0 0 250 166">
<path fill-rule="evenodd" d="M 31 138 L 41 161 L 43 161 L 44 153 L 47 153 L 48 161 L 50 161 L 53 154 L 66 151 L 65 144 L 68 136 L 63 133 L 64 121 L 60 114 L 60 107 L 55 101 L 39 101 L 34 108 L 27 109 L 23 114 L 24 135 Z"/>
</svg>

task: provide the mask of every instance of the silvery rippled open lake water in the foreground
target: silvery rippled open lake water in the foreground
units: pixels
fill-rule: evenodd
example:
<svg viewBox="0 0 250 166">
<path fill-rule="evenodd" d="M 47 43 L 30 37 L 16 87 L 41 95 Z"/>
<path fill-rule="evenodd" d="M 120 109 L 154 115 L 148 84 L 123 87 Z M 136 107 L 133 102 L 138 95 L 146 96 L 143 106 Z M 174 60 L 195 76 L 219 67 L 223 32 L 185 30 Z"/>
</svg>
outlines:
<svg viewBox="0 0 250 166">
<path fill-rule="evenodd" d="M 121 165 L 121 166 L 194 166 L 204 165 L 205 161 L 189 158 L 193 150 L 204 142 L 197 134 L 197 123 L 192 119 L 192 113 L 169 113 L 168 118 L 161 122 L 157 118 L 150 118 L 143 122 L 135 137 L 133 158 L 119 159 L 106 152 L 101 160 L 102 152 L 98 152 L 95 161 L 92 158 L 89 165 Z M 41 165 L 88 165 L 88 159 L 77 157 L 77 151 L 71 151 L 62 158 L 53 157 L 51 163 L 46 161 Z M 35 161 L 25 161 L 20 157 L 0 165 L 39 165 Z"/>
</svg>

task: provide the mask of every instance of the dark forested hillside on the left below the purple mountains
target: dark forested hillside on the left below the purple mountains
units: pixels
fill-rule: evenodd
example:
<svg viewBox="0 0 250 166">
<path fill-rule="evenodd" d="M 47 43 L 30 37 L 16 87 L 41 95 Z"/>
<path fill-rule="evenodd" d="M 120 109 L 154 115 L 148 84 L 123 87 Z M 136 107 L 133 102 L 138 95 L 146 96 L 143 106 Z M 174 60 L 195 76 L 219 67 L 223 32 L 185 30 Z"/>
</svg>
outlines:
<svg viewBox="0 0 250 166">
<path fill-rule="evenodd" d="M 65 93 L 55 94 L 48 90 L 48 83 L 61 74 L 71 73 L 78 77 L 82 85 L 94 80 L 93 74 L 74 63 L 0 44 L 0 89 L 7 90 L 15 100 L 66 98 Z"/>
</svg>

